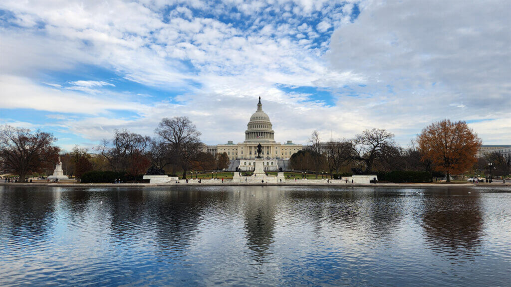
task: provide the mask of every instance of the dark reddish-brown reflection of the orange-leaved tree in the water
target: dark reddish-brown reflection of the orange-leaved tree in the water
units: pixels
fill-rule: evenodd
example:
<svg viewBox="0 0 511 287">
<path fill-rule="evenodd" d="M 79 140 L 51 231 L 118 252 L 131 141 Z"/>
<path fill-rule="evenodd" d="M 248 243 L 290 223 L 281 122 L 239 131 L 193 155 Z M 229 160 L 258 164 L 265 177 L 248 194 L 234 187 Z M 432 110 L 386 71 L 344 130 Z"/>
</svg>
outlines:
<svg viewBox="0 0 511 287">
<path fill-rule="evenodd" d="M 482 236 L 480 198 L 455 196 L 466 195 L 466 189 L 448 193 L 451 196 L 431 198 L 424 203 L 426 240 L 440 248 L 474 249 L 481 243 Z"/>
</svg>

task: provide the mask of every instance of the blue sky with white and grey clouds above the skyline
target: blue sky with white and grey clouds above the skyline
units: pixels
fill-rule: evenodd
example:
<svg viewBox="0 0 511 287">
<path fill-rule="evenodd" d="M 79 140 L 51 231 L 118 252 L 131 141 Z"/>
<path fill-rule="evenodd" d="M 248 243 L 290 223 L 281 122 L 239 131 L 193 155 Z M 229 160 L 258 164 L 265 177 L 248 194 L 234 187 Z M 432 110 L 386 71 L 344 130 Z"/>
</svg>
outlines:
<svg viewBox="0 0 511 287">
<path fill-rule="evenodd" d="M 0 2 L 0 123 L 94 146 L 189 116 L 243 141 L 261 97 L 277 141 L 367 128 L 403 146 L 467 121 L 511 144 L 510 1 Z"/>
</svg>

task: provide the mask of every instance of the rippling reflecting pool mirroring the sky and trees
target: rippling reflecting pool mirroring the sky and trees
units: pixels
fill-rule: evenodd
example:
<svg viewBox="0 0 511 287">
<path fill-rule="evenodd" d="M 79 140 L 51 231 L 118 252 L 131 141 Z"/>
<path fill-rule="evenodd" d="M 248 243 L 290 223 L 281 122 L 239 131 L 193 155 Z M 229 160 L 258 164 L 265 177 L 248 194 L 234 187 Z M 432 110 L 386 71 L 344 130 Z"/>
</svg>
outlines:
<svg viewBox="0 0 511 287">
<path fill-rule="evenodd" d="M 0 186 L 0 285 L 510 285 L 509 192 Z"/>
</svg>

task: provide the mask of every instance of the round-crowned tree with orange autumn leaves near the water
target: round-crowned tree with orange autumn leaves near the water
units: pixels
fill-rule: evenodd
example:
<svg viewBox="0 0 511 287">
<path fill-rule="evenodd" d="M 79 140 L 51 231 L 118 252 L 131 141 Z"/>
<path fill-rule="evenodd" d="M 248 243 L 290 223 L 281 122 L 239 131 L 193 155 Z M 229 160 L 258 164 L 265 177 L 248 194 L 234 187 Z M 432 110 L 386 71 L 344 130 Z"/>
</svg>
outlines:
<svg viewBox="0 0 511 287">
<path fill-rule="evenodd" d="M 446 173 L 447 182 L 451 174 L 459 174 L 476 162 L 481 139 L 466 122 L 453 123 L 449 119 L 433 123 L 424 128 L 417 137 L 422 160 L 431 160 L 435 170 Z"/>
</svg>

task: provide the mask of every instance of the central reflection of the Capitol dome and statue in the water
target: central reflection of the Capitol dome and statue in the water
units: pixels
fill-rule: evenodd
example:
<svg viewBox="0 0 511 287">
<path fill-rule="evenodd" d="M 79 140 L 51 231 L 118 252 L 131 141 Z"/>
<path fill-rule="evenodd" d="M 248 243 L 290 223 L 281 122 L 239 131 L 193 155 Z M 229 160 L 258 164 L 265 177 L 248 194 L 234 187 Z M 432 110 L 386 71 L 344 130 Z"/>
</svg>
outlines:
<svg viewBox="0 0 511 287">
<path fill-rule="evenodd" d="M 255 189 L 255 188 L 254 188 Z M 247 245 L 254 252 L 255 261 L 262 264 L 268 249 L 273 244 L 275 205 L 278 193 L 258 189 L 255 197 L 245 193 L 245 236 Z"/>
</svg>

